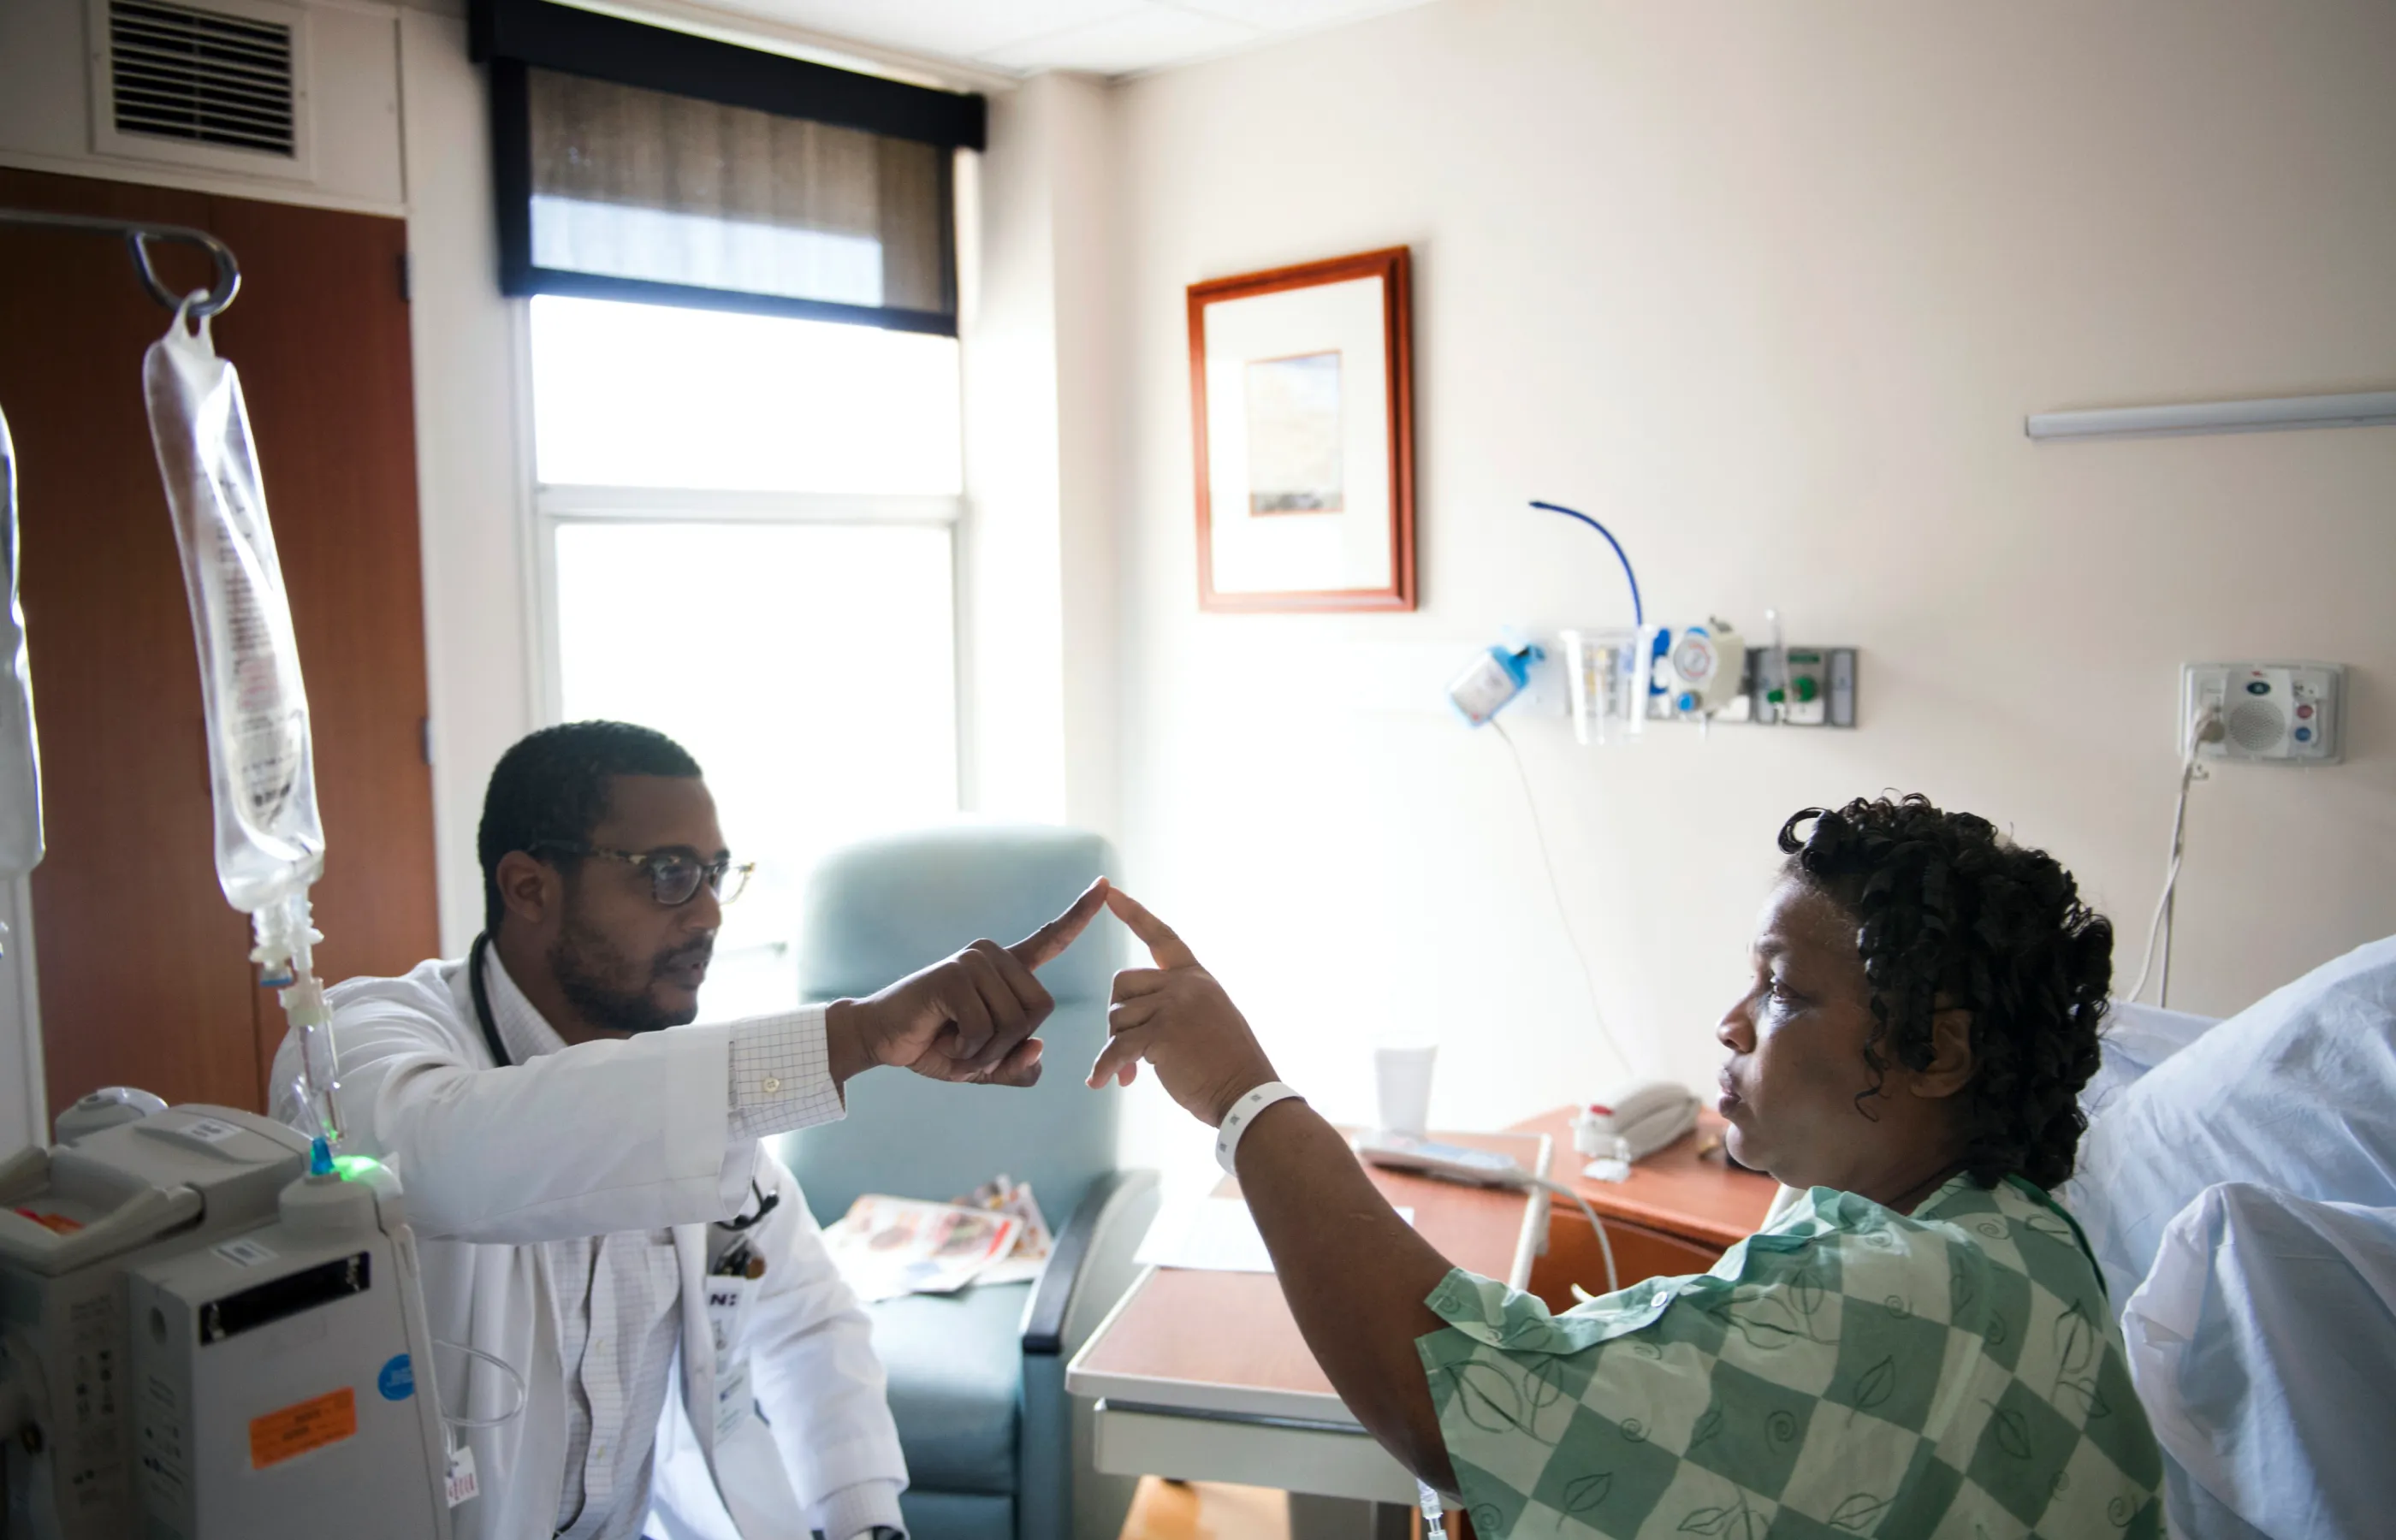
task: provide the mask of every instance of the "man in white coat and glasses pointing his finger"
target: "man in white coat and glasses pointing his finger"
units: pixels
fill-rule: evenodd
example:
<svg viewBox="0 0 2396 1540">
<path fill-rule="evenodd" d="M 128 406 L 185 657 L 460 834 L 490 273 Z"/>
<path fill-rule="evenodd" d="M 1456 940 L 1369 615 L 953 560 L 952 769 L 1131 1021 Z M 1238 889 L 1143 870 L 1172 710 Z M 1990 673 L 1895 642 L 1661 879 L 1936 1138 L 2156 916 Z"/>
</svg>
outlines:
<svg viewBox="0 0 2396 1540">
<path fill-rule="evenodd" d="M 760 1140 L 839 1118 L 875 1066 L 1037 1080 L 1054 1001 L 1033 970 L 1105 881 L 1030 939 L 872 999 L 702 1027 L 748 867 L 673 740 L 609 721 L 525 738 L 491 771 L 479 855 L 467 960 L 331 992 L 343 1147 L 407 1186 L 431 1334 L 522 1380 L 436 1353 L 443 1411 L 474 1423 L 458 1540 L 903 1535 L 867 1317 Z M 276 1085 L 295 1075 L 285 1039 Z"/>
</svg>

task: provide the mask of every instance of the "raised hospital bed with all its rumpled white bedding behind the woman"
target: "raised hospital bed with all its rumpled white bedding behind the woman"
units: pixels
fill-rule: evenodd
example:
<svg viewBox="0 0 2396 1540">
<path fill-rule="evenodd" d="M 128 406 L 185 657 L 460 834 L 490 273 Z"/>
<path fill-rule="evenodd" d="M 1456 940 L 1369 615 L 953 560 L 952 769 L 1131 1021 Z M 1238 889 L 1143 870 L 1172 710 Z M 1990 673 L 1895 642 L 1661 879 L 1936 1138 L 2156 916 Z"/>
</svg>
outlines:
<svg viewBox="0 0 2396 1540">
<path fill-rule="evenodd" d="M 2116 1006 L 2082 1107 L 2173 1533 L 2396 1533 L 2396 936 L 2226 1020 Z"/>
</svg>

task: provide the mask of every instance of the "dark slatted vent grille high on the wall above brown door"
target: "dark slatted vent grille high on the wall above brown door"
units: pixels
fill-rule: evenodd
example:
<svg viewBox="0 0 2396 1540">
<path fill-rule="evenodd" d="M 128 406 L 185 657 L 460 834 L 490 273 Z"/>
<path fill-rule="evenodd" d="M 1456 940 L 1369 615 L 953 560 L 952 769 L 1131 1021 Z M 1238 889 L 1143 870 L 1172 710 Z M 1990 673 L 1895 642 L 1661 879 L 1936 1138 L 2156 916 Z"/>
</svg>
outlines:
<svg viewBox="0 0 2396 1540">
<path fill-rule="evenodd" d="M 161 0 L 110 0 L 120 134 L 297 153 L 292 29 Z"/>
</svg>

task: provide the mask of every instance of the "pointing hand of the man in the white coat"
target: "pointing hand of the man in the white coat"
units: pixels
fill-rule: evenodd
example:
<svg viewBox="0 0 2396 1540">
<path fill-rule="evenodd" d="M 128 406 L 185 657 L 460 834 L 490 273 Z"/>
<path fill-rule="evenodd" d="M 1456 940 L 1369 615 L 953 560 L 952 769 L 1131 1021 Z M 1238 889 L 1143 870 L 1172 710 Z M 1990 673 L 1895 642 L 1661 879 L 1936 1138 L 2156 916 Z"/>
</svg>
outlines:
<svg viewBox="0 0 2396 1540">
<path fill-rule="evenodd" d="M 975 941 L 954 958 L 910 972 L 860 1001 L 824 1011 L 824 1047 L 841 1085 L 877 1063 L 903 1063 L 932 1080 L 1030 1085 L 1040 1078 L 1033 1032 L 1057 1001 L 1033 977 L 1097 917 L 1107 879 L 1014 946 Z"/>
</svg>

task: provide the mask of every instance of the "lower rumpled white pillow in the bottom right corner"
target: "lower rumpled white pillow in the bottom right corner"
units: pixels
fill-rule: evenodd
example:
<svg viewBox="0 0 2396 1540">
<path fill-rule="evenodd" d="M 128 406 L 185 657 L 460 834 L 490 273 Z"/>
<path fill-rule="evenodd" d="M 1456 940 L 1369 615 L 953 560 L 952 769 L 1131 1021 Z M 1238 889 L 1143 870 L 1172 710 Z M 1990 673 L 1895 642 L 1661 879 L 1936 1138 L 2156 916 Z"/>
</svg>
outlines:
<svg viewBox="0 0 2396 1540">
<path fill-rule="evenodd" d="M 2367 1451 L 2396 1449 L 2396 1209 L 2207 1188 L 2120 1336 L 2173 1466 L 2173 1533 L 2386 1533 L 2396 1463 Z"/>
</svg>

